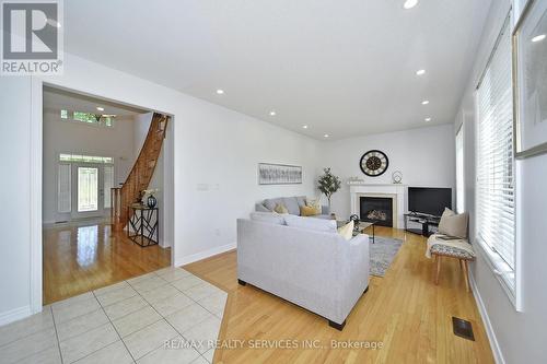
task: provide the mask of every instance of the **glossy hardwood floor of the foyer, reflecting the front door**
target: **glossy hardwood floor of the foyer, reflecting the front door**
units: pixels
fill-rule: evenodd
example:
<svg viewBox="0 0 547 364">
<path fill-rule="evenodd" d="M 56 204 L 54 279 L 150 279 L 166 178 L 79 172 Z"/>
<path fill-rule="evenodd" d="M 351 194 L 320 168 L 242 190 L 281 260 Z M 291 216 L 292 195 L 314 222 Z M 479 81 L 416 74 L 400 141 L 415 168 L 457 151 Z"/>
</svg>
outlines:
<svg viewBox="0 0 547 364">
<path fill-rule="evenodd" d="M 170 266 L 171 248 L 141 248 L 106 224 L 44 230 L 44 305 Z"/>
</svg>

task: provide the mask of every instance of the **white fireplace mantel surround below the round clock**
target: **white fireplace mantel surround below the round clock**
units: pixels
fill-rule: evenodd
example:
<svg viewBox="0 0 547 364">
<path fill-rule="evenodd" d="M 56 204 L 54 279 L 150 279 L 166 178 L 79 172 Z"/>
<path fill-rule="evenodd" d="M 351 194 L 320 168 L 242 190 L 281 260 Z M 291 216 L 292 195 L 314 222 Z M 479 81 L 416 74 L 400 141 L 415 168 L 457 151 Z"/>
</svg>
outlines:
<svg viewBox="0 0 547 364">
<path fill-rule="evenodd" d="M 360 197 L 387 197 L 393 200 L 393 227 L 404 226 L 404 216 L 407 201 L 406 185 L 380 185 L 380 184 L 350 184 L 349 185 L 351 213 L 360 214 Z"/>
</svg>

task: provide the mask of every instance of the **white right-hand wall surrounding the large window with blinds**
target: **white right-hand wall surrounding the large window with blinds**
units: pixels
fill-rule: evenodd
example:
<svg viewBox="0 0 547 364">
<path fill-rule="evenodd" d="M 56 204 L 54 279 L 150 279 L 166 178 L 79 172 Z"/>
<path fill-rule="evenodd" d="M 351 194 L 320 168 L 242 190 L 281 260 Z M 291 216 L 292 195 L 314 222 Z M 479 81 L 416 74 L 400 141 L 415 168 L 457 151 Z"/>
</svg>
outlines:
<svg viewBox="0 0 547 364">
<path fill-rule="evenodd" d="M 516 1 L 513 23 L 522 11 L 525 1 Z M 488 23 L 485 26 L 481 45 L 477 54 L 474 72 L 462 99 L 456 117 L 456 127 L 464 121 L 465 148 L 465 201 L 470 214 L 472 238 L 475 236 L 475 103 L 474 90 L 480 73 L 486 67 L 496 38 L 509 11 L 509 0 L 493 2 Z M 505 363 L 544 363 L 545 343 L 547 342 L 547 244 L 545 244 L 545 207 L 547 189 L 547 154 L 517 161 L 517 244 L 521 254 L 517 256 L 517 268 L 521 291 L 522 312 L 517 313 L 509 301 L 501 284 L 489 268 L 484 256 L 479 254 L 472 266 L 475 281 L 475 296 L 482 309 L 492 350 L 499 362 Z M 478 248 L 480 253 L 480 248 Z"/>
</svg>

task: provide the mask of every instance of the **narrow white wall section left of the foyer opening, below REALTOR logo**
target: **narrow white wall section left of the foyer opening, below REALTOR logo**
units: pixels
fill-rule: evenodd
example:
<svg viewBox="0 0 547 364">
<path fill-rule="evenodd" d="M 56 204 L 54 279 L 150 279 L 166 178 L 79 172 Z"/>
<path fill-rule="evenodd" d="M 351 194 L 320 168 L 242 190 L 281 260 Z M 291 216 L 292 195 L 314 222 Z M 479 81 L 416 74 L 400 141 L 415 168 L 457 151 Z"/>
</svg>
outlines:
<svg viewBox="0 0 547 364">
<path fill-rule="evenodd" d="M 0 325 L 31 313 L 31 93 L 0 77 Z"/>
</svg>

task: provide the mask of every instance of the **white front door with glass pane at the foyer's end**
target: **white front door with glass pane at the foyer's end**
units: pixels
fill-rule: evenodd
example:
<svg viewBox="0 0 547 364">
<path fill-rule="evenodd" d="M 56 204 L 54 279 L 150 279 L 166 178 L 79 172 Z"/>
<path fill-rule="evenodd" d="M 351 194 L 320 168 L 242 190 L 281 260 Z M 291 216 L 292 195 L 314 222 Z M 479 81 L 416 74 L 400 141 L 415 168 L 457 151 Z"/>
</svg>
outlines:
<svg viewBox="0 0 547 364">
<path fill-rule="evenodd" d="M 72 181 L 73 219 L 104 216 L 104 169 L 101 164 L 74 164 Z"/>
</svg>

